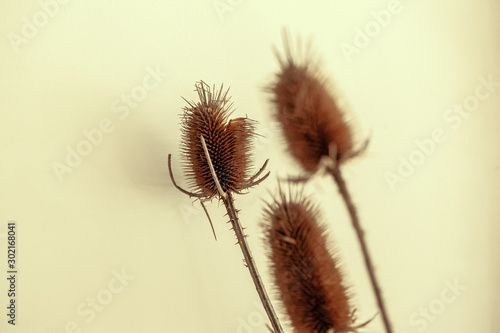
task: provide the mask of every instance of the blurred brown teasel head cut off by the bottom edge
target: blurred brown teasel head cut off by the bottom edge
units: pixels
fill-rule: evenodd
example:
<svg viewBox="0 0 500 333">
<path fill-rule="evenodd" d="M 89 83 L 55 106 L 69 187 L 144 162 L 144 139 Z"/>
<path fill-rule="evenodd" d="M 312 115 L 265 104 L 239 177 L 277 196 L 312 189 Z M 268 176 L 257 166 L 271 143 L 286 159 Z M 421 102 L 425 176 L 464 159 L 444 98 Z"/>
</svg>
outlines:
<svg viewBox="0 0 500 333">
<path fill-rule="evenodd" d="M 319 219 L 310 201 L 281 190 L 265 212 L 271 269 L 297 333 L 353 330 L 347 289 Z"/>
</svg>

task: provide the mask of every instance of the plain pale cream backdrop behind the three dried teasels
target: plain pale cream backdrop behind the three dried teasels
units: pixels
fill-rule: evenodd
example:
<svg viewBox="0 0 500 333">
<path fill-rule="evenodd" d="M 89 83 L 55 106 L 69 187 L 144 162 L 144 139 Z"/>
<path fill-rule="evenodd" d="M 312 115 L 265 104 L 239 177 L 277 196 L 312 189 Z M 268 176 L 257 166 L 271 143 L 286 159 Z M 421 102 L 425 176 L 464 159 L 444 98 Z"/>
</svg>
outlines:
<svg viewBox="0 0 500 333">
<path fill-rule="evenodd" d="M 166 160 L 172 153 L 183 184 L 181 96 L 195 99 L 200 79 L 230 86 L 235 115 L 260 121 L 267 136 L 256 163 L 271 158 L 273 177 L 236 204 L 269 281 L 261 198 L 274 191 L 277 174 L 295 173 L 262 92 L 277 69 L 271 46 L 281 48 L 284 26 L 313 36 L 358 142 L 371 135 L 368 151 L 344 171 L 395 332 L 419 332 L 410 317 L 454 279 L 467 289 L 425 331 L 498 332 L 500 89 L 456 130 L 442 118 L 474 92 L 478 77 L 500 81 L 498 2 L 401 1 L 402 11 L 351 62 L 341 43 L 352 44 L 355 29 L 388 1 L 228 3 L 232 10 L 219 16 L 213 1 L 70 1 L 17 53 L 8 34 L 21 34 L 23 18 L 32 21 L 40 5 L 1 3 L 0 267 L 5 272 L 7 222 L 16 220 L 19 270 L 15 327 L 6 324 L 0 282 L 1 331 L 59 333 L 75 322 L 95 333 L 266 332 L 225 212 L 215 201 L 209 206 L 215 242 L 198 205 L 171 185 Z M 140 85 L 148 67 L 164 71 L 163 82 L 120 119 L 113 102 Z M 104 118 L 113 132 L 60 182 L 53 162 L 64 162 L 66 147 Z M 434 128 L 447 140 L 392 191 L 384 173 Z M 366 320 L 376 307 L 336 189 L 329 179 L 309 189 Z M 87 323 L 77 308 L 121 269 L 134 279 Z M 380 318 L 366 331 L 382 332 Z"/>
</svg>

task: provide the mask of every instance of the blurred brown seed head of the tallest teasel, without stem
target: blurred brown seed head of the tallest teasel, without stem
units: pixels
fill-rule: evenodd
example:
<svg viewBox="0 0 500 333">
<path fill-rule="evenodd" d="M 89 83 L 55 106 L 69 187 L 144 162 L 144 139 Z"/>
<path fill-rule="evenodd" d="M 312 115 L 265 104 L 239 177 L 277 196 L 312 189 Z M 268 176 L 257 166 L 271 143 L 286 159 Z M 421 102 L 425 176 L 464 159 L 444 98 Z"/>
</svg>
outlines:
<svg viewBox="0 0 500 333">
<path fill-rule="evenodd" d="M 351 152 L 351 132 L 316 63 L 309 57 L 294 60 L 288 38 L 284 33 L 286 57 L 277 54 L 281 68 L 269 91 L 290 152 L 305 170 L 314 171 L 330 147 L 337 160 Z"/>
</svg>

